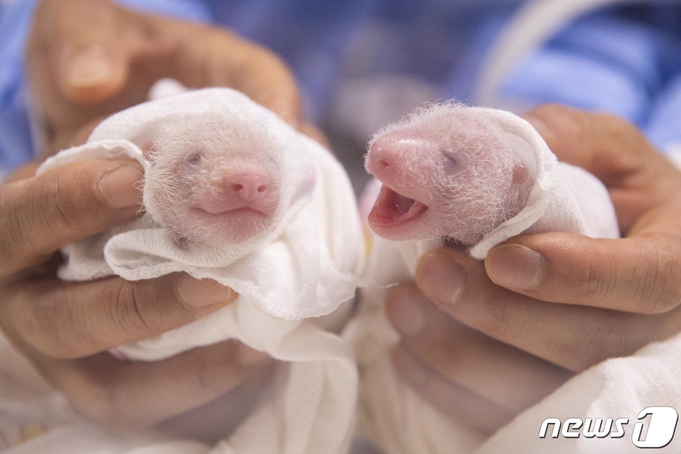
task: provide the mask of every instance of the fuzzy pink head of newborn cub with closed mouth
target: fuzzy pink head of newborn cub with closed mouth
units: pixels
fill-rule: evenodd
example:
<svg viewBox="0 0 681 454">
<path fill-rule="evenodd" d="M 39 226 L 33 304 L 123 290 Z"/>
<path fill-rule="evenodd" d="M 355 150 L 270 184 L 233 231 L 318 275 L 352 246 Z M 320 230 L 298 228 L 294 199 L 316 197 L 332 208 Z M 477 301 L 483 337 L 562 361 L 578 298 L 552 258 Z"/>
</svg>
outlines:
<svg viewBox="0 0 681 454">
<path fill-rule="evenodd" d="M 144 206 L 183 245 L 262 236 L 281 211 L 281 162 L 257 123 L 202 115 L 163 125 L 142 149 Z"/>
</svg>

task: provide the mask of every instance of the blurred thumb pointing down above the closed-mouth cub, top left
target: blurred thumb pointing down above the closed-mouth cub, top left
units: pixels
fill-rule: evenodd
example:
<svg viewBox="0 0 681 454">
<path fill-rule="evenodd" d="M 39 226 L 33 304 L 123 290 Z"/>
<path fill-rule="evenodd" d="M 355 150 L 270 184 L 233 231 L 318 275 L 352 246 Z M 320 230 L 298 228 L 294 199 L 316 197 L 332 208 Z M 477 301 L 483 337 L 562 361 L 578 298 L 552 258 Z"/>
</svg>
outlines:
<svg viewBox="0 0 681 454">
<path fill-rule="evenodd" d="M 128 72 L 118 8 L 108 0 L 52 4 L 57 10 L 48 24 L 53 31 L 48 52 L 57 67 L 57 86 L 73 102 L 108 99 L 123 87 Z"/>
</svg>

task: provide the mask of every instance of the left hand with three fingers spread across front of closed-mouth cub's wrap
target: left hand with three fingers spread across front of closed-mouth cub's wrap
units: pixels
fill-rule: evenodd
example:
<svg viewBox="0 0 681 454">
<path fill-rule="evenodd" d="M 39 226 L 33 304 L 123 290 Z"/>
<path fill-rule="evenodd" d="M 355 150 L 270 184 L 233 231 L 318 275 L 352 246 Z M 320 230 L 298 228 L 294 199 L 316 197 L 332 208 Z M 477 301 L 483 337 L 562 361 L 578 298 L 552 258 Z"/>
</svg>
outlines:
<svg viewBox="0 0 681 454">
<path fill-rule="evenodd" d="M 55 271 L 61 246 L 136 216 L 142 168 L 93 160 L 34 174 L 35 165 L 27 166 L 0 185 L 0 331 L 76 410 L 106 427 L 139 428 L 264 371 L 271 359 L 235 341 L 154 363 L 104 352 L 192 322 L 237 295 L 184 273 L 62 282 Z"/>
</svg>

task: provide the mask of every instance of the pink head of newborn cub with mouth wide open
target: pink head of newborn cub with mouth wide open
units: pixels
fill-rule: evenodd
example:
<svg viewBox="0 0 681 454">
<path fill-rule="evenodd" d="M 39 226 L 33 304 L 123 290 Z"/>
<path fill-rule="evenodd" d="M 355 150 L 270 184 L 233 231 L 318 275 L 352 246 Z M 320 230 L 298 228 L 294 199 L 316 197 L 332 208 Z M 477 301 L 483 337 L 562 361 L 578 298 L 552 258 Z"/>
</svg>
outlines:
<svg viewBox="0 0 681 454">
<path fill-rule="evenodd" d="M 474 245 L 525 207 L 531 183 L 493 120 L 432 104 L 371 138 L 366 170 L 383 183 L 370 228 L 393 241 Z"/>
</svg>

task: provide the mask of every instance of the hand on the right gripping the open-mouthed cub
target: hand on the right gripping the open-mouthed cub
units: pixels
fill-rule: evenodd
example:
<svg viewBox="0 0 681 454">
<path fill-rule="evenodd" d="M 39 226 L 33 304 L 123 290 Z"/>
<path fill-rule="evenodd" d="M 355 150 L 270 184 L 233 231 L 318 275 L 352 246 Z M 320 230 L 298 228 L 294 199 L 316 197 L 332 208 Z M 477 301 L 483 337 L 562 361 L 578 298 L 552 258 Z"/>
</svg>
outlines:
<svg viewBox="0 0 681 454">
<path fill-rule="evenodd" d="M 484 262 L 437 249 L 387 298 L 396 369 L 488 433 L 591 365 L 681 331 L 681 172 L 617 117 L 542 106 L 526 118 L 605 183 L 624 238 L 524 235 Z"/>
</svg>

